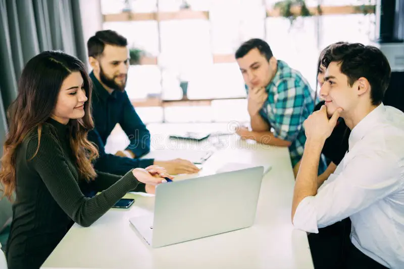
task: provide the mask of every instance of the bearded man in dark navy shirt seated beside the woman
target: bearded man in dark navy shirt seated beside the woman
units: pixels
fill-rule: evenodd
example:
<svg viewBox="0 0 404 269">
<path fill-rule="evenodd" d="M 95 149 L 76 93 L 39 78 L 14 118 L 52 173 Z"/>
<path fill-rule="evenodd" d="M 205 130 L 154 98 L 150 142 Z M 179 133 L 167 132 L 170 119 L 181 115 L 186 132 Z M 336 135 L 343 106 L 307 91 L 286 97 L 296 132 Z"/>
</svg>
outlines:
<svg viewBox="0 0 404 269">
<path fill-rule="evenodd" d="M 95 128 L 88 139 L 98 147 L 95 168 L 113 174 L 125 174 L 135 167 L 159 165 L 170 174 L 196 173 L 199 169 L 187 160 L 158 161 L 139 159 L 150 150 L 150 132 L 136 113 L 125 91 L 129 70 L 129 50 L 125 37 L 112 30 L 98 31 L 87 41 L 90 78 L 94 91 L 92 116 Z M 130 143 L 116 155 L 105 152 L 105 144 L 119 123 Z"/>
</svg>

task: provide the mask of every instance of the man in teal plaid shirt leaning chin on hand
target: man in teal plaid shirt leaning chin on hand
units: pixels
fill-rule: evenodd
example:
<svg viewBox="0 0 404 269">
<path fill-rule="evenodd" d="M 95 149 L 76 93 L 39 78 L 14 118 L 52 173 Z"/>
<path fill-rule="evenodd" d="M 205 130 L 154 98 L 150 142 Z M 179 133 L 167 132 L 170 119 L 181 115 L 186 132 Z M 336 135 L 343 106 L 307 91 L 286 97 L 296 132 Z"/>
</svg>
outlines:
<svg viewBox="0 0 404 269">
<path fill-rule="evenodd" d="M 252 129 L 240 127 L 237 133 L 263 144 L 288 147 L 296 175 L 306 142 L 303 122 L 314 110 L 314 92 L 298 71 L 273 56 L 264 40 L 244 42 L 235 57 L 246 84 Z M 321 161 L 319 173 L 324 170 Z"/>
</svg>

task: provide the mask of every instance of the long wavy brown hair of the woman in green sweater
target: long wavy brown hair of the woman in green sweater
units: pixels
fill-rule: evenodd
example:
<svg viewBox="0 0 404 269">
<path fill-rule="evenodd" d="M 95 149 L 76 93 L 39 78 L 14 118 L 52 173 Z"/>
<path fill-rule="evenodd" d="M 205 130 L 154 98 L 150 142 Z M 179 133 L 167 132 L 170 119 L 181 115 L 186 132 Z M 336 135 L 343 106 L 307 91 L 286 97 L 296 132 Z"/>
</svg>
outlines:
<svg viewBox="0 0 404 269">
<path fill-rule="evenodd" d="M 73 72 L 81 73 L 88 100 L 84 103 L 84 117 L 69 120 L 70 146 L 80 176 L 88 181 L 95 178 L 92 160 L 98 157 L 98 151 L 87 140 L 88 131 L 94 127 L 91 117 L 91 80 L 84 64 L 76 57 L 61 51 L 44 51 L 25 65 L 18 82 L 17 99 L 7 113 L 9 132 L 0 163 L 0 181 L 4 187 L 4 196 L 9 199 L 16 188 L 17 148 L 30 132 L 37 129 L 38 152 L 42 125 L 53 115 L 63 81 Z"/>
</svg>

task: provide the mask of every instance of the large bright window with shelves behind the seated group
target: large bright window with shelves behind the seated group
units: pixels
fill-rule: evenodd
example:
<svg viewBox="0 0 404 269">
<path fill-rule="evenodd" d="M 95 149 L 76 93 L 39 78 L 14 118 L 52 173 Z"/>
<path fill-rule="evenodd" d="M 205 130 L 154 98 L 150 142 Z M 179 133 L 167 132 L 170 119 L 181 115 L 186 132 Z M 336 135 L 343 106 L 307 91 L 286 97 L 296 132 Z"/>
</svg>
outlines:
<svg viewBox="0 0 404 269">
<path fill-rule="evenodd" d="M 102 0 L 103 27 L 121 33 L 131 47 L 143 49 L 148 58 L 155 59 L 131 66 L 127 92 L 132 99 L 157 96 L 179 100 L 181 82 L 187 82 L 189 99 L 244 97 L 243 80 L 233 55 L 243 41 L 252 37 L 267 40 L 274 55 L 300 71 L 315 88 L 321 49 L 336 41 L 368 44 L 374 38 L 375 16 L 364 15 L 361 5 L 375 5 L 376 0 L 308 0 L 311 11 L 321 4 L 326 7 L 326 15 L 299 17 L 292 25 L 279 14 L 267 16 L 276 2 L 279 0 L 188 0 L 190 9 L 181 10 L 185 4 L 182 0 Z M 240 102 L 227 104 L 235 108 L 231 115 L 245 118 L 238 112 L 245 109 Z M 194 121 L 231 118 L 218 116 L 213 105 L 152 107 L 144 113 L 142 109 L 137 108 L 145 117 L 158 115 L 150 121 L 168 120 L 178 114 L 184 119 L 186 111 L 194 115 Z"/>
</svg>

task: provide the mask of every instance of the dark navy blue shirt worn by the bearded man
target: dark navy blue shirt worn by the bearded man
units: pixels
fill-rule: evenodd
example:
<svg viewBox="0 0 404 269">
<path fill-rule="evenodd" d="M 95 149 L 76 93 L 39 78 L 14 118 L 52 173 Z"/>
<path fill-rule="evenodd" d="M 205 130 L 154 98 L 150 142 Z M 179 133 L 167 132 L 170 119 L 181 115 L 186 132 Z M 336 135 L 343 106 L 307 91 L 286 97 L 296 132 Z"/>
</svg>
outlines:
<svg viewBox="0 0 404 269">
<path fill-rule="evenodd" d="M 137 115 L 126 91 L 113 91 L 111 94 L 91 72 L 92 117 L 95 127 L 88 133 L 88 140 L 98 147 L 99 158 L 94 164 L 98 171 L 124 175 L 132 168 L 145 168 L 153 165 L 153 159 L 137 159 L 150 151 L 150 132 Z M 133 152 L 136 159 L 119 157 L 105 152 L 105 144 L 115 125 L 119 123 L 130 143 L 125 150 Z"/>
</svg>

